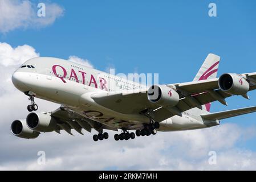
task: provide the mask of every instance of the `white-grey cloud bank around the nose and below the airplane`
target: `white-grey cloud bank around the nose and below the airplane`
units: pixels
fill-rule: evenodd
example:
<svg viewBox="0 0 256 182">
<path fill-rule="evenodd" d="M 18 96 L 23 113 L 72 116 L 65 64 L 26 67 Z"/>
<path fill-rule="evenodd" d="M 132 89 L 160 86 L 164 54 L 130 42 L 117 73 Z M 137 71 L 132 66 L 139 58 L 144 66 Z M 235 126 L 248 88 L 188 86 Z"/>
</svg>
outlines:
<svg viewBox="0 0 256 182">
<path fill-rule="evenodd" d="M 0 44 L 11 50 L 0 51 L 0 170 L 21 169 L 256 169 L 256 152 L 239 147 L 241 143 L 255 137 L 255 128 L 242 128 L 226 123 L 204 130 L 157 133 L 155 136 L 134 140 L 113 139 L 115 132 L 109 131 L 109 139 L 99 142 L 84 131 L 84 136 L 72 131 L 75 137 L 62 134 L 42 133 L 36 139 L 21 139 L 10 133 L 14 119 L 26 118 L 27 96 L 14 88 L 11 74 L 25 59 L 39 56 L 30 46 L 19 46 L 15 51 L 7 43 Z M 21 61 L 22 59 L 22 61 Z M 70 56 L 70 60 L 84 63 L 86 60 Z M 1 87 L 0 87 L 1 88 Z M 39 111 L 52 111 L 59 105 L 39 100 Z M 46 165 L 39 165 L 38 151 L 46 152 Z M 209 165 L 208 152 L 216 151 L 217 165 Z"/>
</svg>

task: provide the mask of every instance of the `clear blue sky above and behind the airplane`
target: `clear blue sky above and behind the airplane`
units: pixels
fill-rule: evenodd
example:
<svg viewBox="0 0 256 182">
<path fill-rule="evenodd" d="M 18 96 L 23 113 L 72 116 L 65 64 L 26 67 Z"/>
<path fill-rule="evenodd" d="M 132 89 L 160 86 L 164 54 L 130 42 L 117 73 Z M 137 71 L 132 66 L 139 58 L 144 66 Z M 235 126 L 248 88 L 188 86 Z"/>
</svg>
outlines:
<svg viewBox="0 0 256 182">
<path fill-rule="evenodd" d="M 35 3 L 42 1 L 33 1 Z M 161 84 L 192 81 L 208 53 L 221 56 L 221 73 L 256 72 L 256 1 L 46 1 L 64 14 L 43 28 L 18 28 L 0 33 L 0 42 L 28 44 L 40 56 L 88 59 L 96 69 L 109 65 L 121 73 L 159 73 Z M 217 5 L 217 17 L 208 5 Z M 256 105 L 235 96 L 229 106 L 211 111 Z M 256 113 L 222 123 L 255 127 Z M 256 138 L 238 146 L 256 151 Z"/>
</svg>

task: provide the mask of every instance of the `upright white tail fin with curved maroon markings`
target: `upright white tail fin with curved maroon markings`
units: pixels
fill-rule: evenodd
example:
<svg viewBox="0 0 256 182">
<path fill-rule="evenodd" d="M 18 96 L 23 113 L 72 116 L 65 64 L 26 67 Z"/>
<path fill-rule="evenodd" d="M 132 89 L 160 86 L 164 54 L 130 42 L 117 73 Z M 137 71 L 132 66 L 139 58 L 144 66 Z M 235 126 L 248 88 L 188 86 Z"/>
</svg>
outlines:
<svg viewBox="0 0 256 182">
<path fill-rule="evenodd" d="M 217 77 L 220 56 L 209 53 L 193 81 L 208 80 Z M 210 111 L 211 103 L 202 106 L 204 110 Z"/>
</svg>

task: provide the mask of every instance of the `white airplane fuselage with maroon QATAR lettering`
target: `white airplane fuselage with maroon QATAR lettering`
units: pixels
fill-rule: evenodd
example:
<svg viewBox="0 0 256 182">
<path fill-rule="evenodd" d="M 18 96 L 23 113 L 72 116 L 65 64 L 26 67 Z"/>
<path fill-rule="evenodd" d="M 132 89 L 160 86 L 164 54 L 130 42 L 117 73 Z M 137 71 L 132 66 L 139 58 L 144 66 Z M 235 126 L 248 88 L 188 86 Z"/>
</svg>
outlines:
<svg viewBox="0 0 256 182">
<path fill-rule="evenodd" d="M 135 130 L 143 127 L 143 123 L 149 123 L 145 115 L 119 113 L 98 105 L 90 97 L 91 93 L 124 92 L 143 89 L 145 85 L 84 65 L 52 57 L 38 57 L 26 61 L 23 67 L 14 72 L 12 80 L 22 92 L 30 91 L 37 98 L 67 106 L 83 117 L 116 129 L 121 129 L 127 123 L 125 126 L 128 129 Z M 204 121 L 200 117 L 203 113 L 208 112 L 197 108 L 185 111 L 182 117 L 176 115 L 160 122 L 159 131 L 201 129 L 219 124 L 218 121 Z"/>
</svg>

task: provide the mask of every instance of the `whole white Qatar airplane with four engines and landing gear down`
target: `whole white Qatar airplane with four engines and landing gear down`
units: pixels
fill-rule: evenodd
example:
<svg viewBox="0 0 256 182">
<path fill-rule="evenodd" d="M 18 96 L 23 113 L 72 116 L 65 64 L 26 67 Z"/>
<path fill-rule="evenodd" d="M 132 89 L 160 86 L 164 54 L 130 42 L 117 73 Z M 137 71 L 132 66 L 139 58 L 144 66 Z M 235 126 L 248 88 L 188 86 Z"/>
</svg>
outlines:
<svg viewBox="0 0 256 182">
<path fill-rule="evenodd" d="M 120 131 L 115 140 L 220 125 L 220 120 L 253 113 L 256 106 L 210 113 L 211 103 L 256 89 L 256 72 L 224 73 L 217 78 L 220 56 L 210 53 L 193 81 L 143 85 L 84 65 L 54 57 L 27 60 L 13 73 L 14 86 L 29 97 L 31 112 L 11 123 L 11 133 L 34 139 L 40 133 L 96 130 L 93 140 L 108 139 L 106 130 Z M 34 98 L 61 106 L 37 112 Z M 103 132 L 104 131 L 104 132 Z"/>
</svg>

